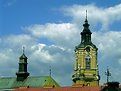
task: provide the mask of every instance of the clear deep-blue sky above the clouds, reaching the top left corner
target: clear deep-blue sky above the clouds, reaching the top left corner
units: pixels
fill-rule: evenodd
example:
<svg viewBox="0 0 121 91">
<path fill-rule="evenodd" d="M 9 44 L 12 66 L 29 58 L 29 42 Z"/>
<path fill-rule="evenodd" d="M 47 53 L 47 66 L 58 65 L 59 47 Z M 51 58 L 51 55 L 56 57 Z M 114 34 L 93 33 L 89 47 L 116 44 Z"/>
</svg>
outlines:
<svg viewBox="0 0 121 91">
<path fill-rule="evenodd" d="M 120 3 L 120 0 L 1 0 L 1 35 L 22 33 L 21 27 L 35 23 L 70 22 L 70 17 L 64 16 L 61 10 L 59 10 L 61 7 L 90 3 L 106 8 Z"/>
</svg>

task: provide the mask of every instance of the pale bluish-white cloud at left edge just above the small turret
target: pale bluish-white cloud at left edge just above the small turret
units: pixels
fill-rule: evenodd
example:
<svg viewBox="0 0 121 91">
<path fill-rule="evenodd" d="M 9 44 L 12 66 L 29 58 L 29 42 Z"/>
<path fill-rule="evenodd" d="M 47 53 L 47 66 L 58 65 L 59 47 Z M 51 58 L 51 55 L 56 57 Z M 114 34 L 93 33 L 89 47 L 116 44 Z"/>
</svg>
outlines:
<svg viewBox="0 0 121 91">
<path fill-rule="evenodd" d="M 30 45 L 36 43 L 36 39 L 27 34 L 9 35 L 2 37 L 1 43 L 1 47 L 10 47 L 13 50 L 18 50 L 18 48 L 22 48 L 22 46 L 25 46 L 27 49 Z"/>
</svg>

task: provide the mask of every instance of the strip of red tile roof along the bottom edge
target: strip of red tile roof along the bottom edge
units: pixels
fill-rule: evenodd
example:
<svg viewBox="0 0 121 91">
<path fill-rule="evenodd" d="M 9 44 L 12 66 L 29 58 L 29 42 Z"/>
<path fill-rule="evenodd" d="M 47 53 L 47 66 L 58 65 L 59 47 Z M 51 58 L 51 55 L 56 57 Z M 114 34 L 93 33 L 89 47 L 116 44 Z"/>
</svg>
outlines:
<svg viewBox="0 0 121 91">
<path fill-rule="evenodd" d="M 46 87 L 46 88 L 18 88 L 14 91 L 100 91 L 99 86 L 68 86 L 68 87 Z"/>
</svg>

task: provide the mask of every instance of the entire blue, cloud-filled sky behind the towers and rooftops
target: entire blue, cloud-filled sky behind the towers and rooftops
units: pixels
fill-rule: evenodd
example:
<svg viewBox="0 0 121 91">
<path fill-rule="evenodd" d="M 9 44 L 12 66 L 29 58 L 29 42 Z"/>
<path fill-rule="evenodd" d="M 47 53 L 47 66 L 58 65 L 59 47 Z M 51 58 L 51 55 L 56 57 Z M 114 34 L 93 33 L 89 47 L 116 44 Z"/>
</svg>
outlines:
<svg viewBox="0 0 121 91">
<path fill-rule="evenodd" d="M 80 43 L 85 12 L 98 47 L 100 84 L 121 83 L 120 0 L 0 0 L 0 76 L 16 76 L 22 47 L 31 76 L 49 75 L 72 85 L 74 48 Z"/>
</svg>

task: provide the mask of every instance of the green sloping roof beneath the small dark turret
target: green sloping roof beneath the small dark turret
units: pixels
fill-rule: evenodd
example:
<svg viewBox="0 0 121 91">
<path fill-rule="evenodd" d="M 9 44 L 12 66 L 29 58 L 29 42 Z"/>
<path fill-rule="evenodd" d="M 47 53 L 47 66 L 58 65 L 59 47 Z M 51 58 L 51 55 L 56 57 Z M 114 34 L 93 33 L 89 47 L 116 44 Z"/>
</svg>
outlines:
<svg viewBox="0 0 121 91">
<path fill-rule="evenodd" d="M 0 78 L 0 89 L 13 89 L 21 86 L 39 88 L 47 85 L 59 86 L 51 76 L 33 76 L 26 78 L 24 81 L 17 81 L 16 77 Z"/>
</svg>

